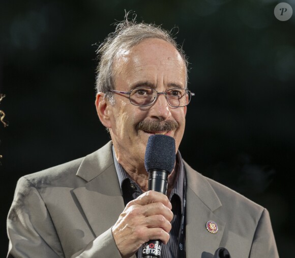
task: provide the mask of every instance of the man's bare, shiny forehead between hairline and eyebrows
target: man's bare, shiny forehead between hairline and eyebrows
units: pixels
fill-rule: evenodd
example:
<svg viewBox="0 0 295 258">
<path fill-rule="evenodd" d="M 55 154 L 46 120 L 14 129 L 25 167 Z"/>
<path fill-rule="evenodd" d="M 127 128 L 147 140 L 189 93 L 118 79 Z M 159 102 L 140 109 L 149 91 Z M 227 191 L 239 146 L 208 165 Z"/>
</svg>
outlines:
<svg viewBox="0 0 295 258">
<path fill-rule="evenodd" d="M 161 39 L 145 39 L 130 50 L 118 51 L 113 68 L 116 79 L 129 84 L 145 79 L 154 84 L 162 78 L 167 83 L 179 81 L 172 83 L 185 87 L 185 61 L 172 44 Z"/>
</svg>

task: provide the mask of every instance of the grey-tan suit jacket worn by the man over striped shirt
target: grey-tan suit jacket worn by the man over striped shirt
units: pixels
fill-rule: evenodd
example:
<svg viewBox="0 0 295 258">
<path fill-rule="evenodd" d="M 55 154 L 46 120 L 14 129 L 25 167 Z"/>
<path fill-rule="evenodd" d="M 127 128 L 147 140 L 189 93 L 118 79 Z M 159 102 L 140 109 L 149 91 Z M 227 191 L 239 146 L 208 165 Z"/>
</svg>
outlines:
<svg viewBox="0 0 295 258">
<path fill-rule="evenodd" d="M 187 257 L 278 257 L 269 213 L 185 163 Z M 96 152 L 19 179 L 8 215 L 8 257 L 121 257 L 111 227 L 124 210 L 111 142 Z M 212 220 L 216 234 L 206 230 Z M 135 255 L 133 255 L 135 258 Z M 163 257 L 164 258 L 164 257 Z"/>
</svg>

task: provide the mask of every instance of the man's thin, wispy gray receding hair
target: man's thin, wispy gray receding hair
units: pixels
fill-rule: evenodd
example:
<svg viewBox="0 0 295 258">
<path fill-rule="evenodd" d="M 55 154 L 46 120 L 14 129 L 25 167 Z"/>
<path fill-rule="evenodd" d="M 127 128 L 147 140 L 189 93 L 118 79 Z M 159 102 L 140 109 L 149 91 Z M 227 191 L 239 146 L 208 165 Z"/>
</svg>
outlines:
<svg viewBox="0 0 295 258">
<path fill-rule="evenodd" d="M 113 60 L 116 54 L 120 50 L 130 50 L 133 46 L 140 43 L 147 38 L 162 39 L 175 47 L 179 51 L 181 57 L 186 65 L 186 84 L 188 81 L 188 61 L 184 54 L 184 51 L 180 45 L 178 45 L 168 32 L 155 24 L 147 24 L 144 22 L 137 23 L 136 15 L 132 20 L 128 19 L 128 13 L 125 15 L 125 19 L 119 23 L 116 23 L 116 29 L 113 33 L 110 33 L 104 42 L 100 44 L 96 53 L 98 56 L 98 66 L 96 69 L 96 91 L 105 93 L 112 103 L 112 92 L 114 89 L 114 71 L 112 67 Z"/>
</svg>

